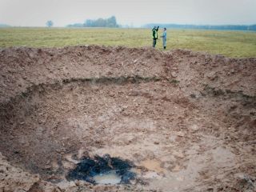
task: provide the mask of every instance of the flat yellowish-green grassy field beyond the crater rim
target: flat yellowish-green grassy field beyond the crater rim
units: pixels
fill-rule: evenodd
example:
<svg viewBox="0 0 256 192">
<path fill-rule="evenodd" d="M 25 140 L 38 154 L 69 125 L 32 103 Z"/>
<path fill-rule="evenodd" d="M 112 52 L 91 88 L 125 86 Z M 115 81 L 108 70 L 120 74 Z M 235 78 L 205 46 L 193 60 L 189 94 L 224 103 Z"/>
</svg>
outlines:
<svg viewBox="0 0 256 192">
<path fill-rule="evenodd" d="M 162 30 L 158 32 L 159 36 Z M 0 28 L 0 47 L 78 45 L 151 46 L 150 29 Z M 190 49 L 232 58 L 256 57 L 256 33 L 222 30 L 168 30 L 167 50 Z M 157 49 L 162 50 L 162 39 Z"/>
</svg>

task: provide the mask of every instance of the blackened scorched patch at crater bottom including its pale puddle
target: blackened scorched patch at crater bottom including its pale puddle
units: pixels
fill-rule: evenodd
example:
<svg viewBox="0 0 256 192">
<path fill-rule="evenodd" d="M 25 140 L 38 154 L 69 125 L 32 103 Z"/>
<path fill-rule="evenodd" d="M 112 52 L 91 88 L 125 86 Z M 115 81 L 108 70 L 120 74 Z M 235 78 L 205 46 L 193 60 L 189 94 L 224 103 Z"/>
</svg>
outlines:
<svg viewBox="0 0 256 192">
<path fill-rule="evenodd" d="M 111 158 L 109 154 L 103 157 L 82 159 L 73 170 L 66 175 L 68 181 L 84 180 L 94 184 L 130 183 L 136 174 L 131 171 L 132 162 L 121 158 Z"/>
</svg>

